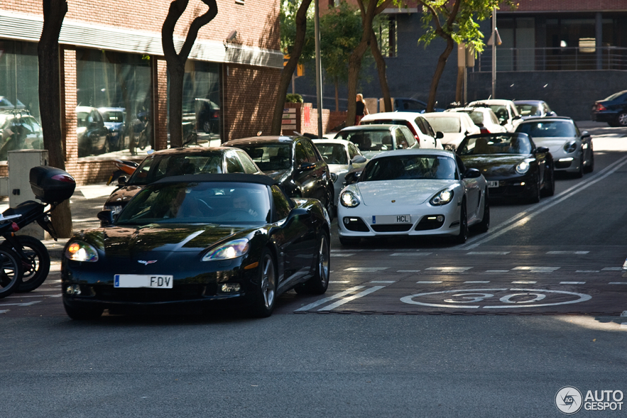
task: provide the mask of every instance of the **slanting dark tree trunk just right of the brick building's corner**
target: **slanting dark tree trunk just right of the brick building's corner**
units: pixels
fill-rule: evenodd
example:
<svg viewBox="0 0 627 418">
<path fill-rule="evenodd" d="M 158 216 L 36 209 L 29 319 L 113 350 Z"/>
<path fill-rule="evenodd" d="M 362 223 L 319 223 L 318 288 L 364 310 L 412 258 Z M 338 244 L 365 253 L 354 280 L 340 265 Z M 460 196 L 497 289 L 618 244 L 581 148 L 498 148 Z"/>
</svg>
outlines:
<svg viewBox="0 0 627 418">
<path fill-rule="evenodd" d="M 287 95 L 287 89 L 292 81 L 292 76 L 300 60 L 300 55 L 303 51 L 303 44 L 305 44 L 305 34 L 307 32 L 307 9 L 312 3 L 312 0 L 303 0 L 296 12 L 296 39 L 290 51 L 290 59 L 287 60 L 283 71 L 281 71 L 281 78 L 277 86 L 277 103 L 275 103 L 275 111 L 272 115 L 272 125 L 270 128 L 270 135 L 280 135 L 281 133 L 281 121 L 283 119 L 283 108 L 285 107 L 285 96 Z"/>
</svg>

